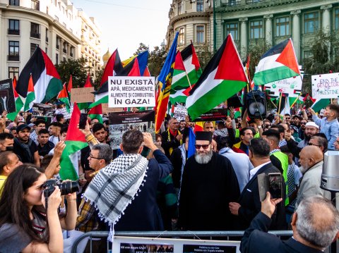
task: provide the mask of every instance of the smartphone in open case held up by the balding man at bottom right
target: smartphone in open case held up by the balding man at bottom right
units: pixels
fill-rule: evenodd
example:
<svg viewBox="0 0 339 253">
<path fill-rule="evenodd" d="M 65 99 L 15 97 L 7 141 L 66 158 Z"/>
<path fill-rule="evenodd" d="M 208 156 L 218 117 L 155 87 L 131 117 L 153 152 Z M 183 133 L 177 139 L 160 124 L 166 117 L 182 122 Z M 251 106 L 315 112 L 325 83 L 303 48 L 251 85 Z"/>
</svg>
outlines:
<svg viewBox="0 0 339 253">
<path fill-rule="evenodd" d="M 270 192 L 272 199 L 283 196 L 283 175 L 281 173 L 261 173 L 258 175 L 259 198 L 263 202 L 266 192 Z"/>
</svg>

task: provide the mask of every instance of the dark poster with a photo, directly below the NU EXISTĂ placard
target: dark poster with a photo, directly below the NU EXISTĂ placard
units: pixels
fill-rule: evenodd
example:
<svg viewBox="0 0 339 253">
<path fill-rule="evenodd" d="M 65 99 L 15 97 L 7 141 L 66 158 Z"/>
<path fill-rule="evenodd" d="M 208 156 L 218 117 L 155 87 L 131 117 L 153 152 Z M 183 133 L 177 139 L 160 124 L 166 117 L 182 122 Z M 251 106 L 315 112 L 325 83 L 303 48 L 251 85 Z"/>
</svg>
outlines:
<svg viewBox="0 0 339 253">
<path fill-rule="evenodd" d="M 112 149 L 119 149 L 122 135 L 127 130 L 150 132 L 155 138 L 155 111 L 121 111 L 109 113 L 109 140 Z"/>
</svg>

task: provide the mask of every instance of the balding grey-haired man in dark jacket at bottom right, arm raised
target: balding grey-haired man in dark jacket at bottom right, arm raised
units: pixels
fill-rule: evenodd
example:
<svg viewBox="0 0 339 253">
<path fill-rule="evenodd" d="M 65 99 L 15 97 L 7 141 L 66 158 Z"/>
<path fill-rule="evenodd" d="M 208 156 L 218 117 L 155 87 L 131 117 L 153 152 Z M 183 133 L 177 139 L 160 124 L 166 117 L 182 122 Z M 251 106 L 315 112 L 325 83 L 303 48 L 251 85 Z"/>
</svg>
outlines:
<svg viewBox="0 0 339 253">
<path fill-rule="evenodd" d="M 339 212 L 331 201 L 323 197 L 304 199 L 292 216 L 293 236 L 288 240 L 280 240 L 268 234 L 271 216 L 275 212 L 275 204 L 282 199 L 266 199 L 261 203 L 261 212 L 257 214 L 242 237 L 240 252 L 298 252 L 321 253 L 338 239 Z"/>
</svg>

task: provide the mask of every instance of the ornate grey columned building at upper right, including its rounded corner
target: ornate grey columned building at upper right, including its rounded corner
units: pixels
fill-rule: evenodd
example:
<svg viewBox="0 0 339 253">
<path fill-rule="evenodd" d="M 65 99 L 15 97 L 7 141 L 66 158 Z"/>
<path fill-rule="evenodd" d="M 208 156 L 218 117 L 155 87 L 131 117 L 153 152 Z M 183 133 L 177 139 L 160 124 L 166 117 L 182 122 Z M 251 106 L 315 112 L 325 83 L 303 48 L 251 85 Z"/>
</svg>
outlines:
<svg viewBox="0 0 339 253">
<path fill-rule="evenodd" d="M 172 42 L 171 39 L 174 37 L 172 33 L 182 28 L 186 32 L 185 44 L 189 44 L 186 38 L 190 38 L 191 34 L 196 36 L 196 29 L 191 32 L 191 28 L 187 28 L 194 27 L 195 19 L 186 18 L 186 23 L 183 20 L 187 15 L 185 11 L 188 11 L 185 9 L 186 6 L 194 6 L 197 2 L 197 0 L 173 1 L 169 11 L 167 44 Z M 285 39 L 292 38 L 298 61 L 302 64 L 304 58 L 311 56 L 312 42 L 320 30 L 339 34 L 339 2 L 334 0 L 214 0 L 214 2 L 207 0 L 204 2 L 203 6 L 206 7 L 205 12 L 208 16 L 206 42 L 210 42 L 208 44 L 210 50 L 218 49 L 231 33 L 243 59 L 246 58 L 248 50 L 256 44 L 265 43 L 274 46 Z M 213 4 L 215 13 L 213 13 Z M 338 54 L 339 49 L 335 49 L 335 55 Z"/>
</svg>

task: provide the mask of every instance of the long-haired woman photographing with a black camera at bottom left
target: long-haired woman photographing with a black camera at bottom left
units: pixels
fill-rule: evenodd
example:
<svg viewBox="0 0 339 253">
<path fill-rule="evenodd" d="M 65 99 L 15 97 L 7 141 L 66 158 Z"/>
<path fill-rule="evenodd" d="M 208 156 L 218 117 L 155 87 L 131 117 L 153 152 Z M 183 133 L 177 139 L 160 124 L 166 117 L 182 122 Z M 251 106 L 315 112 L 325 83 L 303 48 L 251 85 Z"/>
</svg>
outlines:
<svg viewBox="0 0 339 253">
<path fill-rule="evenodd" d="M 44 209 L 46 180 L 32 164 L 23 164 L 8 175 L 0 199 L 1 252 L 63 252 L 61 228 L 75 227 L 76 194 L 66 196 L 68 214 L 59 219 L 59 187 L 49 195 Z"/>
</svg>

